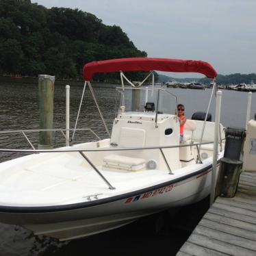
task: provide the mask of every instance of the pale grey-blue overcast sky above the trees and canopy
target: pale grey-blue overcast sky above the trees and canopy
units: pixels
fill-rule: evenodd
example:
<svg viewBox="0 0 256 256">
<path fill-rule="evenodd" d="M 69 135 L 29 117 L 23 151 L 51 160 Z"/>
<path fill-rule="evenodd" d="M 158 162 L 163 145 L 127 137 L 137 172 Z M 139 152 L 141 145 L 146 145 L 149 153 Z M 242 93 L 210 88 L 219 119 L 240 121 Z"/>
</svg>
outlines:
<svg viewBox="0 0 256 256">
<path fill-rule="evenodd" d="M 118 25 L 148 57 L 203 60 L 218 74 L 256 73 L 256 0 L 31 0 Z M 169 73 L 174 77 L 203 77 Z"/>
</svg>

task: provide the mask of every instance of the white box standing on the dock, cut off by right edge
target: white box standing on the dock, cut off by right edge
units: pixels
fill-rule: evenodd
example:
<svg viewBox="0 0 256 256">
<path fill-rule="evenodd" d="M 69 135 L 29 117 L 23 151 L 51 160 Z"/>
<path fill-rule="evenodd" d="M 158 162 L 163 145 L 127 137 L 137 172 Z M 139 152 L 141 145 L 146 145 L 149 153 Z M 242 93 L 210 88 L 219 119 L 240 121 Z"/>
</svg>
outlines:
<svg viewBox="0 0 256 256">
<path fill-rule="evenodd" d="M 244 142 L 244 164 L 246 172 L 256 172 L 256 121 L 248 122 L 246 140 Z"/>
</svg>

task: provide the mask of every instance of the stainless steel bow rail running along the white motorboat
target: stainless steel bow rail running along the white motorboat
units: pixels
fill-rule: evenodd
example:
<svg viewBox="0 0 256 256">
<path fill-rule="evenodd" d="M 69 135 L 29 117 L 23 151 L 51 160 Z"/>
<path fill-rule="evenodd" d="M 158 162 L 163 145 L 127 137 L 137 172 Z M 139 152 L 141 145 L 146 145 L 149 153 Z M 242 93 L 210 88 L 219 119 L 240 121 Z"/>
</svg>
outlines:
<svg viewBox="0 0 256 256">
<path fill-rule="evenodd" d="M 62 130 L 62 129 L 57 129 Z M 90 129 L 88 129 L 90 130 Z M 25 131 L 25 130 L 23 130 Z M 31 131 L 31 130 L 27 130 Z M 41 131 L 41 130 L 32 130 L 32 131 Z M 15 131 L 11 131 L 15 132 Z M 20 131 L 22 132 L 22 131 Z M 0 133 L 8 133 L 8 131 L 1 131 Z M 225 139 L 222 139 L 225 140 Z M 220 140 L 220 142 L 222 142 Z M 92 168 L 97 172 L 97 174 L 103 179 L 103 181 L 107 184 L 108 188 L 110 190 L 114 190 L 115 188 L 111 185 L 109 181 L 102 175 L 102 173 L 99 171 L 99 169 L 92 164 L 90 159 L 86 156 L 85 152 L 97 152 L 97 151 L 133 151 L 133 150 L 151 150 L 151 149 L 159 149 L 160 153 L 162 154 L 162 157 L 164 159 L 164 162 L 166 163 L 166 166 L 168 168 L 168 174 L 173 175 L 172 170 L 170 170 L 170 166 L 168 165 L 168 162 L 166 160 L 166 157 L 164 155 L 163 149 L 174 149 L 174 148 L 180 148 L 183 146 L 196 146 L 197 152 L 199 153 L 199 145 L 204 144 L 213 144 L 214 142 L 203 142 L 203 143 L 193 143 L 193 144 L 184 144 L 184 145 L 174 145 L 174 146 L 146 146 L 146 147 L 132 147 L 132 148 L 108 148 L 108 149 L 0 149 L 0 152 L 9 152 L 9 153 L 67 153 L 67 152 L 78 152 L 84 159 L 86 159 L 86 162 L 92 166 Z M 197 164 L 202 164 L 200 154 L 198 155 L 198 161 L 196 161 Z"/>
</svg>

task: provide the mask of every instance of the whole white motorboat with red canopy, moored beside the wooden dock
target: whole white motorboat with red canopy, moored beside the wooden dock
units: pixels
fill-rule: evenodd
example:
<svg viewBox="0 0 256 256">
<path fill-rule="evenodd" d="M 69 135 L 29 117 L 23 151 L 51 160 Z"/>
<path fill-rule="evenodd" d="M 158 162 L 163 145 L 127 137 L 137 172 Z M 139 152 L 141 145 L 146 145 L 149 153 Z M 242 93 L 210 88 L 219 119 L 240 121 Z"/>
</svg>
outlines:
<svg viewBox="0 0 256 256">
<path fill-rule="evenodd" d="M 93 93 L 94 73 L 152 70 L 217 75 L 207 62 L 129 58 L 86 64 L 84 88 L 88 85 Z M 1 222 L 71 240 L 195 203 L 209 194 L 214 122 L 187 120 L 179 142 L 177 97 L 163 88 L 126 88 L 123 72 L 121 78 L 110 138 L 54 150 L 19 150 L 32 154 L 0 164 Z M 138 92 L 140 103 L 134 104 L 131 96 L 138 97 Z M 162 94 L 169 101 L 161 103 Z M 164 111 L 164 104 L 170 112 Z M 219 135 L 218 159 L 223 155 L 222 125 Z"/>
</svg>

